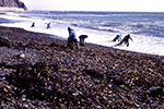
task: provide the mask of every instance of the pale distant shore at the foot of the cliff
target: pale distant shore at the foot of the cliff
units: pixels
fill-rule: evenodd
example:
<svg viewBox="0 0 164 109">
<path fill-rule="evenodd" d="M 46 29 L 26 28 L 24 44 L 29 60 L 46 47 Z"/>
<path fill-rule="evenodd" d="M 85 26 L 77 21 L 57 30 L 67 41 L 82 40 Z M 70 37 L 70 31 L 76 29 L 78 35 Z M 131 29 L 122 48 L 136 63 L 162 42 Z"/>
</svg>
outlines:
<svg viewBox="0 0 164 109">
<path fill-rule="evenodd" d="M 23 12 L 24 9 L 21 8 L 8 8 L 8 7 L 0 7 L 0 12 Z"/>
</svg>

